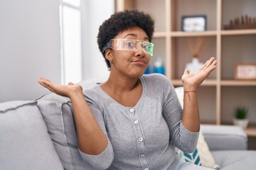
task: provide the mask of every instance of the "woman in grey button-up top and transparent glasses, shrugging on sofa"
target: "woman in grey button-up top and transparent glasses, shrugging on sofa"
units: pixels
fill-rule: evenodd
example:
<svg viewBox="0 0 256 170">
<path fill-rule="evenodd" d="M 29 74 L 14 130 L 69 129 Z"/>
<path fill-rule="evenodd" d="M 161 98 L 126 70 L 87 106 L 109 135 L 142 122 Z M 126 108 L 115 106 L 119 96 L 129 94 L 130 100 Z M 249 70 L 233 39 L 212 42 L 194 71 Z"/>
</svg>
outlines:
<svg viewBox="0 0 256 170">
<path fill-rule="evenodd" d="M 182 76 L 183 110 L 174 86 L 161 74 L 144 75 L 154 45 L 154 21 L 136 10 L 114 13 L 97 42 L 110 77 L 82 93 L 73 83 L 38 82 L 73 104 L 82 158 L 95 169 L 206 169 L 181 162 L 175 147 L 193 152 L 200 120 L 196 91 L 216 67 L 210 58 Z"/>
</svg>

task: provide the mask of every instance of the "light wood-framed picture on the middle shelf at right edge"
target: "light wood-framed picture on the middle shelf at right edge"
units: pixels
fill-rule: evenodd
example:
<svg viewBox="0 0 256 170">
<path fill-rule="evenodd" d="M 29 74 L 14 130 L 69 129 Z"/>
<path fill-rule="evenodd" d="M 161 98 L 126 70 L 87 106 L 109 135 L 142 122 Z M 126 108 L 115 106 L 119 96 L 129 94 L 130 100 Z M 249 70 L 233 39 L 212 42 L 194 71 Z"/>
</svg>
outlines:
<svg viewBox="0 0 256 170">
<path fill-rule="evenodd" d="M 235 79 L 256 80 L 256 62 L 235 64 Z"/>
</svg>

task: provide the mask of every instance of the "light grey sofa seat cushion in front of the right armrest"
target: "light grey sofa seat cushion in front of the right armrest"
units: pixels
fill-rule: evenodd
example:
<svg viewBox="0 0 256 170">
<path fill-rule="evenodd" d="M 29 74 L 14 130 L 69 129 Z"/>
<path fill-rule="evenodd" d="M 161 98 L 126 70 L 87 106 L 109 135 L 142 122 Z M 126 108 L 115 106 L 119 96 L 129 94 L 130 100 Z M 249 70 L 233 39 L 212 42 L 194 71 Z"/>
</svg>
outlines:
<svg viewBox="0 0 256 170">
<path fill-rule="evenodd" d="M 221 170 L 256 169 L 255 150 L 223 150 L 211 152 Z"/>
</svg>

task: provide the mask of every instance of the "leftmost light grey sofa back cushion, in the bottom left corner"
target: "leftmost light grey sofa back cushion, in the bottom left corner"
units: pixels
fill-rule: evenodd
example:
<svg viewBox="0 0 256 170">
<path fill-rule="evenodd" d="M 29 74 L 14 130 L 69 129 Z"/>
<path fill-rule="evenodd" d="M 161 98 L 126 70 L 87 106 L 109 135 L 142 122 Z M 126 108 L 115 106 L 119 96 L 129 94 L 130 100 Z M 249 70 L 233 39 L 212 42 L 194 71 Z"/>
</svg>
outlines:
<svg viewBox="0 0 256 170">
<path fill-rule="evenodd" d="M 63 169 L 35 101 L 0 103 L 0 165 L 2 170 Z"/>
</svg>

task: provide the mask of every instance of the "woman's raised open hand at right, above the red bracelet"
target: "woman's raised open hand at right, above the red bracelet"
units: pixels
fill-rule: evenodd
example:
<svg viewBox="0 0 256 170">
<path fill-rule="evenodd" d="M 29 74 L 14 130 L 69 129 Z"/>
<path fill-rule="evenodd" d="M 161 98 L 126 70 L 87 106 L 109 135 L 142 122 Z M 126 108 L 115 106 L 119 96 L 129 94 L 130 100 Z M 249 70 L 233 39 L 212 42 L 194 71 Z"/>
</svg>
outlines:
<svg viewBox="0 0 256 170">
<path fill-rule="evenodd" d="M 214 57 L 211 57 L 203 67 L 198 70 L 195 74 L 190 74 L 188 69 L 185 69 L 181 81 L 183 83 L 184 89 L 189 91 L 196 91 L 198 86 L 203 83 L 203 81 L 208 77 L 210 72 L 216 68 L 217 61 Z"/>
</svg>

